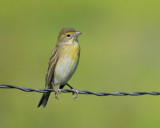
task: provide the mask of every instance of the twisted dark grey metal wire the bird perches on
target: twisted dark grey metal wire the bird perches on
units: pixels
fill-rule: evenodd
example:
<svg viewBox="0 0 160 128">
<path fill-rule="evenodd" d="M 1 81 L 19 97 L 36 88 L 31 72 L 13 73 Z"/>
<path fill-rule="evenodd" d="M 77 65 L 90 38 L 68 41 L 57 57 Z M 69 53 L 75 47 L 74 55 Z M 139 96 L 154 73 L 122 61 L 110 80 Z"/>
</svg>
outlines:
<svg viewBox="0 0 160 128">
<path fill-rule="evenodd" d="M 8 84 L 0 84 L 0 88 L 3 89 L 18 89 L 25 92 L 55 92 L 54 89 L 32 89 L 32 88 L 24 88 L 24 87 L 17 87 L 14 85 L 8 85 Z M 70 89 L 60 89 L 62 93 L 73 93 L 73 90 Z M 107 93 L 107 92 L 91 92 L 86 90 L 78 90 L 78 94 L 92 94 L 96 96 L 140 96 L 140 95 L 160 95 L 160 92 L 113 92 L 113 93 Z"/>
</svg>

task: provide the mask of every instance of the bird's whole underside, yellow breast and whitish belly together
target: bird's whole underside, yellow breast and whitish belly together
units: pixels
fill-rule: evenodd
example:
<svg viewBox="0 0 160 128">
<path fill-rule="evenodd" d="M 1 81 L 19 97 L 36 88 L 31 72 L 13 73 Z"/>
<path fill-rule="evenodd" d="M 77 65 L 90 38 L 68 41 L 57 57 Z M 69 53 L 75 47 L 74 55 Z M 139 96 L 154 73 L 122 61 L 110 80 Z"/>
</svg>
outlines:
<svg viewBox="0 0 160 128">
<path fill-rule="evenodd" d="M 75 72 L 80 55 L 80 47 L 77 44 L 65 45 L 63 52 L 61 52 L 55 72 L 54 72 L 54 84 L 65 84 Z"/>
</svg>

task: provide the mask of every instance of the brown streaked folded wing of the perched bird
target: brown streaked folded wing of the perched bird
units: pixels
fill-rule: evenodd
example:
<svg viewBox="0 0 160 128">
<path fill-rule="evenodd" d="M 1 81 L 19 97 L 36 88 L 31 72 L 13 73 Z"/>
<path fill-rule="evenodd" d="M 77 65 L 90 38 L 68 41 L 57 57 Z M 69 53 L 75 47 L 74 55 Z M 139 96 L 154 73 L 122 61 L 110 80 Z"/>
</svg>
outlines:
<svg viewBox="0 0 160 128">
<path fill-rule="evenodd" d="M 55 70 L 57 61 L 58 61 L 57 47 L 55 47 L 55 49 L 51 54 L 49 64 L 48 64 L 48 71 L 46 74 L 46 85 L 45 85 L 46 88 L 52 88 L 50 85 L 51 85 L 52 79 L 54 78 L 54 70 Z"/>
</svg>

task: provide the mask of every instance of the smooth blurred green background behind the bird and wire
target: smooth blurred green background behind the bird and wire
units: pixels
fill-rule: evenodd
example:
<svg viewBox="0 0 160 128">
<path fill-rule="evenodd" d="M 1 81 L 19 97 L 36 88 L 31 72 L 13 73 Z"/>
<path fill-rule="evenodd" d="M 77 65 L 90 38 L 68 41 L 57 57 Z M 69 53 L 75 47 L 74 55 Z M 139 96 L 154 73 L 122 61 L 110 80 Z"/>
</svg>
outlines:
<svg viewBox="0 0 160 128">
<path fill-rule="evenodd" d="M 44 88 L 61 28 L 79 36 L 81 58 L 69 83 L 94 92 L 160 91 L 159 0 L 1 0 L 0 83 Z M 0 89 L 3 128 L 160 127 L 160 96 L 52 94 Z"/>
</svg>

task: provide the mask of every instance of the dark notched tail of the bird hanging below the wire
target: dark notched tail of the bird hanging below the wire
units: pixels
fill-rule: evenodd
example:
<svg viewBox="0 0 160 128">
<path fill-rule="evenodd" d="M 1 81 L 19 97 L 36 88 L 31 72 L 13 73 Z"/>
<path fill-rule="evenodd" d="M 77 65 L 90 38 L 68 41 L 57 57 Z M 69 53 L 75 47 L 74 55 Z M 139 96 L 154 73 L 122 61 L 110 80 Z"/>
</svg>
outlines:
<svg viewBox="0 0 160 128">
<path fill-rule="evenodd" d="M 46 107 L 47 102 L 48 102 L 48 98 L 49 98 L 49 96 L 50 96 L 50 93 L 51 93 L 51 92 L 43 93 L 42 98 L 41 98 L 41 100 L 40 100 L 40 102 L 39 102 L 39 104 L 38 104 L 38 108 L 39 108 L 41 105 L 42 105 L 44 108 Z"/>
</svg>

